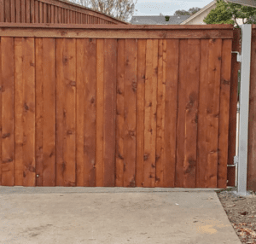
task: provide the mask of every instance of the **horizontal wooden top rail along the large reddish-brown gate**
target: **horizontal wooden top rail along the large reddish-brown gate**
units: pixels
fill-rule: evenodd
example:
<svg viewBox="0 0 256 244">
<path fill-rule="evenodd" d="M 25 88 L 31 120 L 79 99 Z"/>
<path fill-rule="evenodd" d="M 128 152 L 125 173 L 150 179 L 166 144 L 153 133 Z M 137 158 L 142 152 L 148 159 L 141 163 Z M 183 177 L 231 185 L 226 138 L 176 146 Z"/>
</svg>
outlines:
<svg viewBox="0 0 256 244">
<path fill-rule="evenodd" d="M 0 37 L 231 39 L 232 25 L 137 26 L 0 23 Z"/>
</svg>

